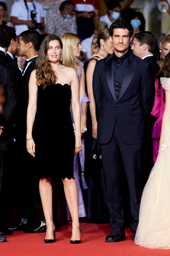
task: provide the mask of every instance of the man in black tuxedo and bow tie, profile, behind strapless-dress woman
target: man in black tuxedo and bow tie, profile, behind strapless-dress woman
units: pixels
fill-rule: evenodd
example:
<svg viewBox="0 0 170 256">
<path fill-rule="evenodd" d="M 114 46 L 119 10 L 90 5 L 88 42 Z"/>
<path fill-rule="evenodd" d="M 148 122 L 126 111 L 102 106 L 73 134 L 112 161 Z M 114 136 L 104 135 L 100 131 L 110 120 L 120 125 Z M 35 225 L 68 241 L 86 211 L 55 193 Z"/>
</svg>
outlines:
<svg viewBox="0 0 170 256">
<path fill-rule="evenodd" d="M 26 117 L 28 107 L 28 83 L 30 74 L 35 70 L 35 61 L 40 47 L 40 34 L 34 29 L 26 30 L 20 34 L 18 52 L 26 56 L 23 82 L 20 97 L 17 102 L 17 118 L 15 124 L 16 152 L 18 157 L 18 171 L 21 191 L 21 220 L 10 230 L 23 230 L 24 232 L 42 232 L 46 230 L 45 217 L 39 194 L 39 179 L 36 178 L 34 158 L 26 150 Z M 35 225 L 35 226 L 34 226 Z M 28 227 L 29 226 L 29 227 Z"/>
</svg>

